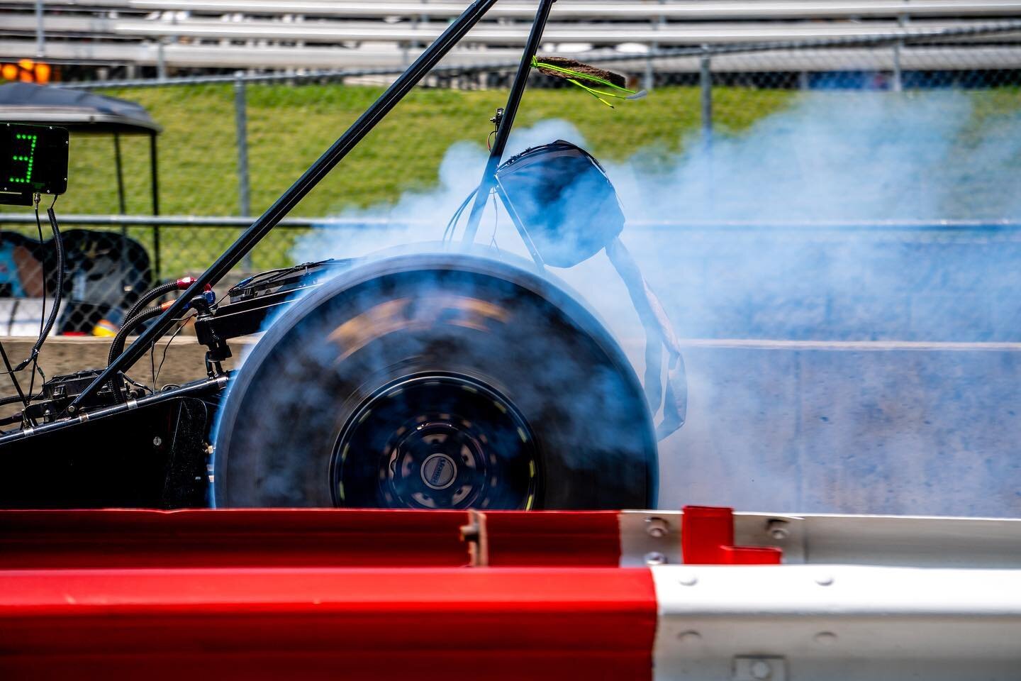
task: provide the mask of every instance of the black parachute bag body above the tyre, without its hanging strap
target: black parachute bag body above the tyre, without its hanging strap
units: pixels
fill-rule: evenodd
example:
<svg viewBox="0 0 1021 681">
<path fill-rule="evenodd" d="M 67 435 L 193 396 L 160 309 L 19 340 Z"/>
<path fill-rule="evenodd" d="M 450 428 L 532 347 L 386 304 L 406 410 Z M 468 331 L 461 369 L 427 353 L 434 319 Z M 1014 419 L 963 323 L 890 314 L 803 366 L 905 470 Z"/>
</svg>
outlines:
<svg viewBox="0 0 1021 681">
<path fill-rule="evenodd" d="M 606 173 L 584 149 L 556 140 L 526 149 L 496 169 L 507 210 L 545 264 L 587 260 L 624 230 Z"/>
</svg>

